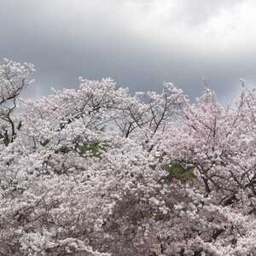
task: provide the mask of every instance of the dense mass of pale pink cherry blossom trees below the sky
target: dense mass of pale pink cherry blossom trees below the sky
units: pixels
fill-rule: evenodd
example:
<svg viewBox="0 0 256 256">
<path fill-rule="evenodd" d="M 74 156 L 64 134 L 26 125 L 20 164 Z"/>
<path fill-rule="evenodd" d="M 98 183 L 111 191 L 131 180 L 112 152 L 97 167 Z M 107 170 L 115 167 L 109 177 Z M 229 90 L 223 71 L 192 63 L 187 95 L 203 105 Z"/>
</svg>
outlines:
<svg viewBox="0 0 256 256">
<path fill-rule="evenodd" d="M 20 101 L 32 71 L 0 66 L 1 255 L 256 255 L 255 90 L 81 78 Z"/>
</svg>

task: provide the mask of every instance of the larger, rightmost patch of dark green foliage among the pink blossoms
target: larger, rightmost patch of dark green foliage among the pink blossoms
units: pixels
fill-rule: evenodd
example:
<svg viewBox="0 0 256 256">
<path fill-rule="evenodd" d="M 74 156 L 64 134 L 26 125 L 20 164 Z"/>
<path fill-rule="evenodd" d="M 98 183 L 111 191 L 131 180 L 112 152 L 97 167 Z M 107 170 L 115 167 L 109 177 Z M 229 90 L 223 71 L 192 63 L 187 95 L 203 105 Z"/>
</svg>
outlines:
<svg viewBox="0 0 256 256">
<path fill-rule="evenodd" d="M 184 166 L 183 164 L 166 164 L 164 170 L 169 173 L 169 178 L 177 178 L 182 182 L 189 182 L 195 179 L 194 166 Z"/>
</svg>

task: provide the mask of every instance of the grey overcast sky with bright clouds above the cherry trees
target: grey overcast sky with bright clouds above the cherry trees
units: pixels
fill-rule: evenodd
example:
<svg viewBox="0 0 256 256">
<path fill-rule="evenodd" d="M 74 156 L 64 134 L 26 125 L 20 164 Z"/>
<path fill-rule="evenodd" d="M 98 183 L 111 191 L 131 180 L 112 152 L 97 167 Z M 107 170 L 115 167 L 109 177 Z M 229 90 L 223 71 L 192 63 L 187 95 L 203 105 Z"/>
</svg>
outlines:
<svg viewBox="0 0 256 256">
<path fill-rule="evenodd" d="M 255 0 L 0 0 L 0 56 L 32 62 L 29 96 L 111 77 L 134 90 L 207 77 L 221 101 L 256 82 Z"/>
</svg>

